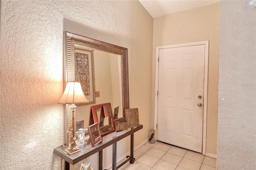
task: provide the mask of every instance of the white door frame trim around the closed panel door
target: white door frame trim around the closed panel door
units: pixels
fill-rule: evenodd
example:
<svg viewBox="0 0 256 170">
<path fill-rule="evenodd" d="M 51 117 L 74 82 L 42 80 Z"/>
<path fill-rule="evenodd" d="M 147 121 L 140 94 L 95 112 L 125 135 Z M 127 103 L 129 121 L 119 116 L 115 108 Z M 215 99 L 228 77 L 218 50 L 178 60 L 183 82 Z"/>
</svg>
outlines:
<svg viewBox="0 0 256 170">
<path fill-rule="evenodd" d="M 186 47 L 193 45 L 205 45 L 204 50 L 204 111 L 203 111 L 203 145 L 202 154 L 206 154 L 206 120 L 207 120 L 207 90 L 208 90 L 208 58 L 209 58 L 209 40 L 200 42 L 180 43 L 174 45 L 163 45 L 156 47 L 156 79 L 155 79 L 155 110 L 154 110 L 154 129 L 156 129 L 157 140 L 157 117 L 158 117 L 158 73 L 159 73 L 159 50 L 165 48 Z"/>
</svg>

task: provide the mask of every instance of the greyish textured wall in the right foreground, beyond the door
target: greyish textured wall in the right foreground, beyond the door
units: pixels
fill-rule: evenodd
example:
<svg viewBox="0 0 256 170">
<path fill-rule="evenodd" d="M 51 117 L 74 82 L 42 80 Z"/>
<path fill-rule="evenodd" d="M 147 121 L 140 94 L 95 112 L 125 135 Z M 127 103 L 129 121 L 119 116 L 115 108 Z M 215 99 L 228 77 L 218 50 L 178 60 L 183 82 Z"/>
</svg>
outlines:
<svg viewBox="0 0 256 170">
<path fill-rule="evenodd" d="M 220 1 L 218 170 L 256 169 L 256 8 Z"/>
</svg>

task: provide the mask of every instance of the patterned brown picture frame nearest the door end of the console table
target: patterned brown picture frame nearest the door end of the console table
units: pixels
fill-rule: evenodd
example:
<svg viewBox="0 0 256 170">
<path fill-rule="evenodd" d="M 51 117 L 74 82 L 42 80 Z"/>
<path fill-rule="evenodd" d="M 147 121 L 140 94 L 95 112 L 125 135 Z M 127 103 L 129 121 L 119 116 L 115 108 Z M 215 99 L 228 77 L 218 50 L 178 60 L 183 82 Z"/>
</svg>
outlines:
<svg viewBox="0 0 256 170">
<path fill-rule="evenodd" d="M 138 108 L 125 109 L 125 119 L 127 121 L 128 128 L 140 126 Z"/>
</svg>

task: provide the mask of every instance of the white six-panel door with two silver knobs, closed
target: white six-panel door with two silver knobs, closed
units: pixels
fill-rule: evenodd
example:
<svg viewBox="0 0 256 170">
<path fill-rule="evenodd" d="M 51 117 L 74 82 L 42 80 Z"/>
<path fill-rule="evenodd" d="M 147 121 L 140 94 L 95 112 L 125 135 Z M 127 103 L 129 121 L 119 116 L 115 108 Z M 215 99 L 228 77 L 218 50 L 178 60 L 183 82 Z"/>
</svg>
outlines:
<svg viewBox="0 0 256 170">
<path fill-rule="evenodd" d="M 157 139 L 200 153 L 204 50 L 205 45 L 159 50 Z"/>
</svg>

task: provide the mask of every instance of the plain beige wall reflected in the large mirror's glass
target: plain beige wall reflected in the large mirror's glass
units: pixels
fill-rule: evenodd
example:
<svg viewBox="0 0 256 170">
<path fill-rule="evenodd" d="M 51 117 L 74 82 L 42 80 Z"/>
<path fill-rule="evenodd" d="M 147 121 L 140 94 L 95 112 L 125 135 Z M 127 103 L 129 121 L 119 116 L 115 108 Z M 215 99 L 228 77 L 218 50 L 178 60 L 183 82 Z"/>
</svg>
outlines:
<svg viewBox="0 0 256 170">
<path fill-rule="evenodd" d="M 94 50 L 94 77 L 95 91 L 100 92 L 100 97 L 96 97 L 96 104 L 111 103 L 112 108 L 120 108 L 115 118 L 123 117 L 121 56 Z M 84 120 L 84 127 L 89 123 L 90 106 L 76 107 L 76 121 Z M 99 125 L 101 127 L 102 124 L 99 122 Z"/>
</svg>

